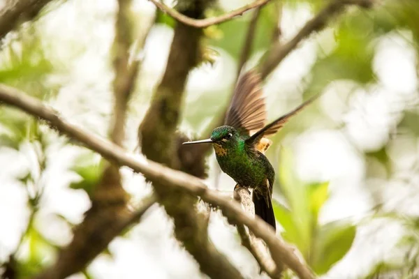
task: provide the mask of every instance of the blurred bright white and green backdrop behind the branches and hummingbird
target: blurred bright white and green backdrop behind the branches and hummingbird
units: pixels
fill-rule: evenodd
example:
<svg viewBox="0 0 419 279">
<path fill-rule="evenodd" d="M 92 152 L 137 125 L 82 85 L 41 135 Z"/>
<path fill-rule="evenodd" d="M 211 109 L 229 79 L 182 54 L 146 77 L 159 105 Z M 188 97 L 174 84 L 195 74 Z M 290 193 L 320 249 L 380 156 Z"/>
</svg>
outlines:
<svg viewBox="0 0 419 279">
<path fill-rule="evenodd" d="M 220 0 L 208 15 L 247 2 Z M 370 10 L 348 8 L 304 40 L 263 86 L 269 119 L 323 93 L 272 137 L 267 151 L 277 170 L 278 234 L 299 248 L 321 278 L 419 274 L 419 1 L 377 2 Z M 125 146 L 132 151 L 166 68 L 175 25 L 149 1 L 133 3 L 138 36 L 153 25 L 144 49 L 133 52 L 142 67 L 126 123 Z M 286 41 L 325 3 L 283 0 L 265 6 L 246 68 L 272 45 L 278 26 L 280 40 Z M 116 8 L 113 0 L 51 3 L 3 40 L 0 82 L 108 135 Z M 205 29 L 212 58 L 189 75 L 179 126 L 189 135 L 203 133 L 227 105 L 250 18 L 245 13 Z M 0 124 L 0 265 L 15 253 L 19 276 L 27 278 L 51 264 L 57 248 L 71 241 L 71 228 L 89 209 L 101 158 L 17 110 L 0 107 Z M 208 186 L 232 190 L 233 180 L 218 177 L 214 154 L 207 162 Z M 152 191 L 140 174 L 122 172 L 133 204 Z M 154 206 L 84 273 L 71 278 L 205 278 L 172 236 L 172 227 L 164 210 Z M 219 213 L 212 213 L 210 237 L 244 275 L 264 278 Z"/>
</svg>

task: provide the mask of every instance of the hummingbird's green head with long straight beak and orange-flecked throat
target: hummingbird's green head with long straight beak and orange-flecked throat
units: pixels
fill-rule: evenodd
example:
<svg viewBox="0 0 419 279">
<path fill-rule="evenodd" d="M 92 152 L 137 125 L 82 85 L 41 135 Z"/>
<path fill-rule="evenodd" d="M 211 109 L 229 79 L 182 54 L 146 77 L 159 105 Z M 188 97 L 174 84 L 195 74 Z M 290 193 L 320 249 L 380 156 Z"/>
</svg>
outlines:
<svg viewBox="0 0 419 279">
<path fill-rule="evenodd" d="M 207 140 L 197 140 L 195 142 L 184 142 L 183 144 L 203 144 L 212 143 L 217 155 L 226 155 L 228 149 L 237 147 L 240 135 L 231 126 L 220 126 L 212 130 L 211 137 Z"/>
</svg>

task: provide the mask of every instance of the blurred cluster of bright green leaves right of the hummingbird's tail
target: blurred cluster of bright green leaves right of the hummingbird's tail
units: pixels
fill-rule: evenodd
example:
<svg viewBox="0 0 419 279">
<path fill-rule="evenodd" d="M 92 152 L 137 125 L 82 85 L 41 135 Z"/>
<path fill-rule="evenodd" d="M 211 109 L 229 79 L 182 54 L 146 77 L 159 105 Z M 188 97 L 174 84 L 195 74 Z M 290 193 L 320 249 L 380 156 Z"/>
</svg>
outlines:
<svg viewBox="0 0 419 279">
<path fill-rule="evenodd" d="M 293 170 L 291 151 L 283 149 L 279 180 L 286 205 L 273 201 L 282 236 L 295 244 L 304 259 L 318 274 L 327 273 L 351 248 L 356 227 L 342 220 L 321 224 L 319 213 L 329 197 L 329 183 L 305 185 Z"/>
</svg>

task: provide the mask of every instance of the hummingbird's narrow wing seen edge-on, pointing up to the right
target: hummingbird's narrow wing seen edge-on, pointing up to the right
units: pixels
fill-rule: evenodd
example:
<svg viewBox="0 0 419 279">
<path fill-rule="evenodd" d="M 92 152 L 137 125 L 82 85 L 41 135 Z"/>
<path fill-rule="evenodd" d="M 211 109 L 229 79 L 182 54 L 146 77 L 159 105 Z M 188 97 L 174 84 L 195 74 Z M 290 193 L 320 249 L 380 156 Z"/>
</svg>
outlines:
<svg viewBox="0 0 419 279">
<path fill-rule="evenodd" d="M 307 105 L 313 103 L 313 101 L 316 100 L 316 98 L 318 98 L 318 95 L 305 101 L 304 103 L 296 107 L 293 111 L 288 112 L 288 114 L 285 114 L 279 117 L 279 119 L 275 119 L 271 123 L 267 124 L 267 126 L 261 128 L 256 133 L 251 135 L 251 137 L 249 137 L 249 139 L 246 140 L 246 144 L 253 146 L 254 144 L 257 144 L 263 136 L 273 135 L 274 133 L 277 133 L 277 131 L 280 128 L 284 127 L 284 125 L 288 122 L 289 119 L 291 119 L 292 116 L 303 110 L 304 107 L 307 107 Z"/>
</svg>

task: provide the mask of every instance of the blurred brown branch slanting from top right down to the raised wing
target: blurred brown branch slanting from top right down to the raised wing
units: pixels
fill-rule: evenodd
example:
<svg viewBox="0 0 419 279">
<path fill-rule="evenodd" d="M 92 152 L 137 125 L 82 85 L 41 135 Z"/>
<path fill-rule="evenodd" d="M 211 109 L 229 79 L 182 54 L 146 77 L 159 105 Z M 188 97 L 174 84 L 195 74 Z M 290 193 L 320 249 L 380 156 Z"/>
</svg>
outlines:
<svg viewBox="0 0 419 279">
<path fill-rule="evenodd" d="M 321 31 L 332 17 L 341 13 L 346 6 L 356 5 L 364 8 L 372 6 L 374 0 L 332 0 L 320 13 L 313 19 L 309 20 L 307 24 L 287 43 L 281 44 L 277 42 L 272 48 L 263 56 L 263 63 L 259 65 L 262 78 L 265 79 L 272 70 L 278 66 L 279 63 L 297 47 L 297 45 L 307 38 L 311 33 Z"/>
</svg>

